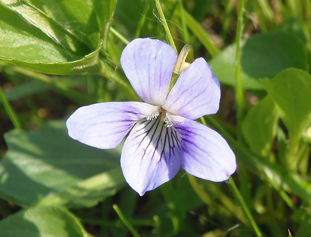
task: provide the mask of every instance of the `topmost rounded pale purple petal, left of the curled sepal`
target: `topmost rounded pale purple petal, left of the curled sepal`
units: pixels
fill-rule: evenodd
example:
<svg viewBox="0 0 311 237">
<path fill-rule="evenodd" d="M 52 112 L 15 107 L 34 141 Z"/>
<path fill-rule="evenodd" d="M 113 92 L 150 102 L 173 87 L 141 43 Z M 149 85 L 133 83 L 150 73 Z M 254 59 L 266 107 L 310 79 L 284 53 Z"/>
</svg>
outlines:
<svg viewBox="0 0 311 237">
<path fill-rule="evenodd" d="M 147 103 L 163 104 L 177 61 L 174 49 L 159 40 L 135 39 L 125 47 L 120 61 L 139 97 Z"/>
</svg>

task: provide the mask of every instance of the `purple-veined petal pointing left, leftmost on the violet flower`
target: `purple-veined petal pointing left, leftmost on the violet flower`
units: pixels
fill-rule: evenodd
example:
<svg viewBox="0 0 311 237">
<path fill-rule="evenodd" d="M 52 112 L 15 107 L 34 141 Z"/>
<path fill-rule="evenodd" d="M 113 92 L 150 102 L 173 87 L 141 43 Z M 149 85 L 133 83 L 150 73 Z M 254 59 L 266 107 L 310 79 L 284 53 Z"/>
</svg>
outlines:
<svg viewBox="0 0 311 237">
<path fill-rule="evenodd" d="M 158 110 L 142 102 L 107 102 L 77 109 L 67 120 L 71 138 L 92 147 L 115 148 L 138 119 Z"/>
</svg>

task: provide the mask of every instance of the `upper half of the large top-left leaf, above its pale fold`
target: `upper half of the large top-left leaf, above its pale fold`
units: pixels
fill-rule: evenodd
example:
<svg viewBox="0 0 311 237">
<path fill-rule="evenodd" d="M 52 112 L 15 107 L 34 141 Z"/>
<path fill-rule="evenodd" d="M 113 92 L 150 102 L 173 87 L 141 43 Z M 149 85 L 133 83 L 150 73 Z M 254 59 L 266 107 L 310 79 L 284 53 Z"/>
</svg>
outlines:
<svg viewBox="0 0 311 237">
<path fill-rule="evenodd" d="M 82 43 L 90 49 L 97 48 L 89 36 L 100 31 L 92 0 L 1 0 L 2 4 L 16 12 L 28 24 L 36 27 L 57 44 L 72 50 Z M 98 2 L 98 1 L 94 1 Z M 110 15 L 102 15 L 109 18 Z M 79 46 L 79 45 L 78 45 Z M 81 49 L 80 47 L 78 49 Z M 73 49 L 75 51 L 75 49 Z"/>
</svg>

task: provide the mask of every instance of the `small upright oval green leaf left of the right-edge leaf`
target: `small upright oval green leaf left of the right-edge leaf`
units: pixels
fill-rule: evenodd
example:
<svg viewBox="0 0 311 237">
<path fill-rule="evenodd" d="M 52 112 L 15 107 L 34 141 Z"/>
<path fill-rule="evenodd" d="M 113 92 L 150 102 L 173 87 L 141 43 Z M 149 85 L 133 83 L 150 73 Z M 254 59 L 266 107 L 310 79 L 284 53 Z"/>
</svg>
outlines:
<svg viewBox="0 0 311 237">
<path fill-rule="evenodd" d="M 251 150 L 267 156 L 276 136 L 278 112 L 270 96 L 253 106 L 242 123 L 242 132 Z"/>
</svg>

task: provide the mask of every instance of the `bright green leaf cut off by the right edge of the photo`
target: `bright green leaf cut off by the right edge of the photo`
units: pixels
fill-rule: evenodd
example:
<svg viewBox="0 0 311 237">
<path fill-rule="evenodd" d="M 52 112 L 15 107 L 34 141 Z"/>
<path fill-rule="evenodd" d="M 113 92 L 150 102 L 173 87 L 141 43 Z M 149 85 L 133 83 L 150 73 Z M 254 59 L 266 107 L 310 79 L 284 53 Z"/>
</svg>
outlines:
<svg viewBox="0 0 311 237">
<path fill-rule="evenodd" d="M 262 84 L 276 103 L 290 137 L 299 137 L 311 123 L 311 75 L 289 68 Z"/>
</svg>

